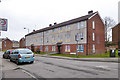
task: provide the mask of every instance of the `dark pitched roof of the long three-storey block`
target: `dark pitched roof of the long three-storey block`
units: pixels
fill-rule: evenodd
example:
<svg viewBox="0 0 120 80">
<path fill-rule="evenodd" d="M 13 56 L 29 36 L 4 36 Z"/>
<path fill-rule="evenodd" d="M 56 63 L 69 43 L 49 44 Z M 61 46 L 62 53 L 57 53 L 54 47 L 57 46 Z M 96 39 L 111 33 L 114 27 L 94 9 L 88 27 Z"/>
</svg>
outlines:
<svg viewBox="0 0 120 80">
<path fill-rule="evenodd" d="M 31 32 L 31 33 L 29 33 L 25 36 L 29 36 L 29 35 L 36 34 L 36 33 L 39 33 L 39 32 L 43 32 L 43 31 L 47 31 L 47 30 L 50 30 L 50 29 L 58 28 L 58 27 L 61 27 L 61 26 L 73 24 L 73 23 L 76 23 L 76 22 L 85 21 L 85 20 L 88 20 L 88 18 L 93 16 L 95 13 L 98 13 L 98 12 L 94 12 L 94 13 L 91 13 L 91 14 L 88 14 L 88 15 L 85 15 L 85 16 L 82 16 L 82 17 L 78 17 L 78 18 L 75 18 L 75 19 L 72 19 L 72 20 L 69 20 L 69 21 L 65 21 L 65 22 L 62 22 L 62 23 L 59 23 L 59 24 L 55 24 L 55 25 L 50 26 L 50 27 L 39 29 L 39 30 L 33 31 L 33 32 Z"/>
</svg>

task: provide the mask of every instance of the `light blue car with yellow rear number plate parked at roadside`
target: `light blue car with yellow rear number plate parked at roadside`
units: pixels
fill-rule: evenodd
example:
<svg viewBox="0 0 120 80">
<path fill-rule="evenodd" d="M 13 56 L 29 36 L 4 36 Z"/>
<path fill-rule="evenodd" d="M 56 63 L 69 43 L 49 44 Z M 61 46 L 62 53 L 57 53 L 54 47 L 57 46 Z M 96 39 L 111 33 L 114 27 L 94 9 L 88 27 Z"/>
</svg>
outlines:
<svg viewBox="0 0 120 80">
<path fill-rule="evenodd" d="M 34 60 L 34 53 L 30 49 L 15 49 L 12 54 L 10 54 L 10 61 L 16 62 L 17 65 L 24 62 L 33 63 Z"/>
</svg>

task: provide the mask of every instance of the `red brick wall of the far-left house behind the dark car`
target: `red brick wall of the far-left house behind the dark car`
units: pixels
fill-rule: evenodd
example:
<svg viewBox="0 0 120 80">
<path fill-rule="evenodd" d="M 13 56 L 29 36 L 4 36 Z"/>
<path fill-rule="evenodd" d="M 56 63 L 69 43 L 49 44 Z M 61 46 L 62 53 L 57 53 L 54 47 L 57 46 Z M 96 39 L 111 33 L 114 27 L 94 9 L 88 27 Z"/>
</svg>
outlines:
<svg viewBox="0 0 120 80">
<path fill-rule="evenodd" d="M 12 49 L 12 47 L 13 47 L 13 43 L 11 40 L 6 39 L 6 40 L 2 41 L 2 51 Z"/>
</svg>

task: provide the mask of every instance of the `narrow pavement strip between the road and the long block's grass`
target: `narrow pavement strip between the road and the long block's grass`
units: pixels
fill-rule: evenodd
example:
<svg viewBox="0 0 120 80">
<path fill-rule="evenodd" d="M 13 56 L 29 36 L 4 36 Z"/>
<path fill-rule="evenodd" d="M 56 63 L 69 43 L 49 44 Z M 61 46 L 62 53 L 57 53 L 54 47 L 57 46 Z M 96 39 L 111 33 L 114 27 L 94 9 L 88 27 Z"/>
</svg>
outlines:
<svg viewBox="0 0 120 80">
<path fill-rule="evenodd" d="M 72 58 L 72 57 L 62 57 L 62 56 L 49 56 L 49 55 L 38 55 L 35 56 L 49 57 L 49 58 L 58 58 L 58 59 L 67 59 L 67 60 L 77 60 L 77 61 L 96 61 L 96 62 L 116 62 L 120 63 L 119 58 Z"/>
</svg>

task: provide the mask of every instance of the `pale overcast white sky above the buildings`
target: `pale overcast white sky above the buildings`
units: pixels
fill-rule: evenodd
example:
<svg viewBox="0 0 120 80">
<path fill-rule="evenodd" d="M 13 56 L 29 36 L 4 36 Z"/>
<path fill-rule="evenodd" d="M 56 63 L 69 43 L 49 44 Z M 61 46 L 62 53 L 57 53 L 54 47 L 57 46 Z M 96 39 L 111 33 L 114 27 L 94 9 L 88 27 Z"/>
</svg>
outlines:
<svg viewBox="0 0 120 80">
<path fill-rule="evenodd" d="M 8 19 L 8 31 L 0 38 L 19 41 L 33 30 L 48 27 L 98 11 L 101 18 L 108 16 L 118 22 L 120 0 L 1 0 L 0 18 Z M 24 27 L 26 29 L 24 29 Z"/>
</svg>

